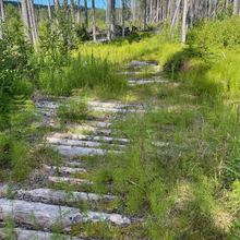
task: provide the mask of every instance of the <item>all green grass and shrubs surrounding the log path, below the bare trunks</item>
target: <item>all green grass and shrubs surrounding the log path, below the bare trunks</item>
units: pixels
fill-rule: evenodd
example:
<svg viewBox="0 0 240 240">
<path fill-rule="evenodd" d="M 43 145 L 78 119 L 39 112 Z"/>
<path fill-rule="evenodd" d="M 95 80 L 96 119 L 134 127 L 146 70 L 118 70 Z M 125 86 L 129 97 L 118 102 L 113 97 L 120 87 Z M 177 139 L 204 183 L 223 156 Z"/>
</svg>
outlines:
<svg viewBox="0 0 240 240">
<path fill-rule="evenodd" d="M 144 217 L 145 224 L 129 230 L 139 239 L 239 239 L 239 16 L 197 22 L 183 47 L 181 27 L 170 29 L 168 23 L 156 36 L 140 32 L 88 46 L 68 46 L 59 36 L 64 33 L 52 38 L 46 32 L 37 55 L 22 32 L 7 31 L 0 41 L 1 168 L 11 166 L 12 177 L 22 180 L 51 155 L 47 147 L 44 154 L 29 154 L 31 136 L 41 134 L 33 103 L 26 100 L 36 89 L 71 96 L 81 88 L 77 93 L 85 97 L 164 106 L 112 123 L 112 131 L 120 130 L 116 134 L 131 144 L 124 156 L 82 159 L 94 172 L 89 178 L 95 184 L 87 191 L 120 195 L 119 211 Z M 159 61 L 168 85 L 129 87 L 115 73 L 132 59 Z M 73 121 L 87 113 L 84 103 L 58 112 Z M 109 181 L 113 189 L 106 187 Z M 106 228 L 99 232 L 98 226 L 98 237 L 118 232 Z M 118 235 L 124 239 L 124 229 Z"/>
</svg>

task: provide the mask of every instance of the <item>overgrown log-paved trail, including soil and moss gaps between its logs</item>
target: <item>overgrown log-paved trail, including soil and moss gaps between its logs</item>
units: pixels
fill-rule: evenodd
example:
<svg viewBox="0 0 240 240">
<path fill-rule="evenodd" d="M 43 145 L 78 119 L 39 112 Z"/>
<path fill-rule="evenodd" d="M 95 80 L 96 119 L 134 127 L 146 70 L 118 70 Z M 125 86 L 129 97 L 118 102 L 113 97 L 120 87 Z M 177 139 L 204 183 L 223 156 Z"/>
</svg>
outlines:
<svg viewBox="0 0 240 240">
<path fill-rule="evenodd" d="M 131 61 L 130 65 L 122 68 L 122 72 L 118 74 L 137 75 L 139 72 L 135 72 L 135 69 L 147 69 L 148 67 L 154 68 L 154 72 L 159 72 L 159 67 L 153 62 Z M 168 84 L 159 77 L 129 79 L 129 84 L 133 87 L 153 83 Z M 57 117 L 58 108 L 65 107 L 68 111 L 70 100 L 77 103 L 83 99 L 81 97 L 59 97 L 53 100 L 49 96 L 34 96 L 33 100 L 39 115 L 39 128 L 51 125 L 52 129 L 60 130 Z M 81 177 L 87 176 L 87 173 L 91 175 L 91 169 L 86 167 L 84 158 L 81 160 L 81 157 L 94 158 L 97 155 L 98 158 L 104 158 L 108 153 L 124 155 L 124 149 L 128 144 L 131 144 L 131 141 L 128 137 L 117 137 L 116 131 L 121 132 L 121 129 L 112 129 L 112 121 L 115 122 L 117 119 L 124 120 L 127 115 L 131 115 L 134 118 L 136 115 L 155 111 L 160 106 L 152 106 L 149 108 L 147 104 L 143 103 L 128 104 L 99 100 L 87 100 L 86 105 L 92 111 L 93 120 L 82 124 L 73 123 L 71 127 L 67 125 L 68 131 L 52 131 L 50 134 L 45 135 L 41 142 L 41 144 L 50 146 L 58 152 L 58 166 L 44 165 L 41 169 L 37 169 L 28 177 L 26 185 L 1 185 L 0 220 L 5 220 L 10 215 L 13 216 L 13 232 L 15 235 L 13 239 L 70 239 L 70 237 L 63 236 L 62 232 L 71 235 L 74 226 L 86 223 L 96 224 L 100 221 L 106 225 L 127 228 L 130 225 L 146 221 L 143 216 L 133 217 L 112 207 L 117 201 L 120 201 L 118 196 L 88 192 L 87 187 L 93 184 L 93 181 Z M 69 113 L 71 115 L 71 112 Z M 165 143 L 154 144 L 165 145 Z M 130 179 L 124 180 L 129 184 L 141 188 Z M 70 185 L 71 190 L 56 190 L 53 188 L 59 188 L 59 185 L 56 187 L 57 183 L 63 184 L 64 188 Z M 106 184 L 110 187 L 113 183 L 109 181 Z M 82 185 L 85 191 L 77 190 L 76 185 Z M 9 194 L 11 196 L 13 194 L 14 200 L 9 199 Z M 91 206 L 91 211 L 81 211 L 81 207 L 74 207 L 79 206 L 80 202 L 82 203 L 83 201 Z M 49 232 L 56 231 L 56 229 L 61 233 Z M 79 231 L 84 232 L 84 228 L 79 229 Z M 97 231 L 100 232 L 100 229 Z M 98 239 L 97 236 L 100 236 L 100 233 L 95 233 L 96 238 L 94 239 Z M 131 232 L 127 233 L 132 236 Z M 81 235 L 85 236 L 82 232 Z M 4 236 L 3 232 L 2 236 Z M 86 235 L 86 238 L 74 237 L 73 239 L 88 238 Z"/>
</svg>

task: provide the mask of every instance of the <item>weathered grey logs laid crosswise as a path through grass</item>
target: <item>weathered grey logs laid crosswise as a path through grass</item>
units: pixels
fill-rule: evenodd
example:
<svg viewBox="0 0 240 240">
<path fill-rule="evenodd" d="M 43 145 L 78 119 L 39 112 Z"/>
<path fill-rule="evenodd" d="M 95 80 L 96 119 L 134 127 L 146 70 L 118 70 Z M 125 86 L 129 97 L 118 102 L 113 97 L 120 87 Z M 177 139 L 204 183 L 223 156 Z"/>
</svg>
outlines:
<svg viewBox="0 0 240 240">
<path fill-rule="evenodd" d="M 132 61 L 132 67 L 146 68 L 157 67 L 149 62 Z M 135 74 L 141 72 L 135 72 Z M 118 74 L 133 74 L 133 72 L 121 72 Z M 137 82 L 137 83 L 136 83 Z M 146 84 L 146 83 L 163 83 L 161 80 L 129 80 L 129 84 Z M 77 99 L 76 99 L 77 100 Z M 67 98 L 64 98 L 68 105 Z M 93 111 L 111 112 L 113 118 L 116 113 L 124 115 L 144 113 L 147 112 L 147 106 L 128 105 L 122 103 L 101 103 L 88 101 L 89 108 Z M 56 112 L 59 104 L 51 100 L 39 100 L 35 103 L 38 112 L 44 113 L 45 120 L 47 118 L 56 118 Z M 153 109 L 152 109 L 153 110 Z M 43 181 L 53 183 L 65 183 L 71 185 L 87 185 L 93 182 L 87 179 L 81 179 L 81 176 L 87 173 L 87 168 L 84 164 L 79 161 L 80 156 L 94 156 L 111 154 L 124 154 L 125 146 L 130 143 L 127 137 L 115 137 L 112 135 L 112 125 L 110 121 L 88 121 L 87 124 L 92 127 L 94 134 L 80 133 L 62 133 L 55 132 L 47 135 L 45 141 L 47 145 L 58 151 L 61 157 L 64 157 L 62 166 L 43 166 L 43 170 L 47 176 Z M 39 127 L 40 128 L 40 127 Z M 109 148 L 106 148 L 109 146 Z M 103 147 L 104 145 L 104 147 Z M 163 144 L 164 146 L 164 144 Z M 77 159 L 77 160 L 76 160 Z M 75 177 L 73 177 L 76 175 Z M 9 196 L 14 193 L 14 200 Z M 21 187 L 11 187 L 8 184 L 0 185 L 0 223 L 3 223 L 8 217 L 14 219 L 15 229 L 13 231 L 14 238 L 17 240 L 24 239 L 87 239 L 87 238 L 71 238 L 72 226 L 85 223 L 105 221 L 108 225 L 129 226 L 136 223 L 131 216 L 118 213 L 106 213 L 105 209 L 88 209 L 82 212 L 81 208 L 74 207 L 72 204 L 77 201 L 100 202 L 106 203 L 117 201 L 115 195 L 99 195 L 94 192 L 79 192 L 52 190 L 46 185 L 29 185 L 28 189 Z M 60 233 L 55 232 L 56 225 L 59 224 Z M 37 230 L 36 230 L 37 229 Z M 4 238 L 8 232 L 0 224 L 0 238 Z M 57 236 L 57 237 L 56 237 Z M 13 239 L 14 239 L 13 238 Z"/>
</svg>

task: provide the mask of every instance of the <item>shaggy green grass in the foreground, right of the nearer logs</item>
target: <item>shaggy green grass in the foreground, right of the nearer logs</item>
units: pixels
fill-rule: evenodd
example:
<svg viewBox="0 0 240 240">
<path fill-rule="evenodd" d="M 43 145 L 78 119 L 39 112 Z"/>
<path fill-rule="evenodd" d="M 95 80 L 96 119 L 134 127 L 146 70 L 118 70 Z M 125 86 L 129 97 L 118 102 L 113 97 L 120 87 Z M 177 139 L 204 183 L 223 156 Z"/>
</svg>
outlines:
<svg viewBox="0 0 240 240">
<path fill-rule="evenodd" d="M 81 160 L 95 192 L 119 195 L 118 211 L 146 220 L 140 239 L 237 239 L 238 108 L 207 95 L 185 107 L 183 93 L 178 108 L 112 122 L 131 141 L 125 155 Z"/>
</svg>

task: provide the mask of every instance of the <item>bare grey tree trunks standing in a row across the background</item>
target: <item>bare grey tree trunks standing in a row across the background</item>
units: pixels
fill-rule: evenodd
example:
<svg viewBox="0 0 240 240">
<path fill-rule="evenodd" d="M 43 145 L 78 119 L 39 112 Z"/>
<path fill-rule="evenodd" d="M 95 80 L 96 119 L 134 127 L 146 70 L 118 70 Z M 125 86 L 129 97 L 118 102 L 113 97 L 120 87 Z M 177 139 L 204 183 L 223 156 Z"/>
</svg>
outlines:
<svg viewBox="0 0 240 240">
<path fill-rule="evenodd" d="M 84 25 L 89 28 L 89 1 L 84 1 Z M 53 29 L 59 26 L 60 15 L 64 15 L 68 31 L 75 33 L 80 29 L 81 12 L 83 7 L 81 0 L 74 2 L 53 0 L 53 8 L 48 0 L 48 19 L 52 35 Z M 171 27 L 182 22 L 182 43 L 185 43 L 185 33 L 197 20 L 215 19 L 218 12 L 229 10 L 233 14 L 240 13 L 239 0 L 103 0 L 106 5 L 107 39 L 116 38 L 121 28 L 121 36 L 125 36 L 125 25 L 136 25 L 139 29 L 147 29 L 151 24 L 164 24 L 169 21 Z M 34 45 L 39 43 L 38 20 L 33 0 L 21 0 L 19 4 L 22 20 L 24 22 L 25 39 Z M 95 0 L 91 0 L 93 41 L 96 41 L 96 9 Z M 2 37 L 3 23 L 7 19 L 3 0 L 0 0 L 0 38 Z M 71 27 L 70 27 L 71 25 Z"/>
</svg>

